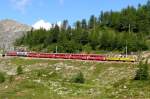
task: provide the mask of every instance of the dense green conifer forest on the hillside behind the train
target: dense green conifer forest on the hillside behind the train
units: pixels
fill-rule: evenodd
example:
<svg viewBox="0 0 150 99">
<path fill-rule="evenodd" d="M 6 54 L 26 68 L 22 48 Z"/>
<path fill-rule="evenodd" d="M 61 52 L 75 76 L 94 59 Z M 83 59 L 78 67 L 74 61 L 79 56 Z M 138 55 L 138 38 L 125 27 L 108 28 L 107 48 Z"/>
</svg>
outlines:
<svg viewBox="0 0 150 99">
<path fill-rule="evenodd" d="M 121 11 L 101 12 L 89 20 L 82 19 L 70 26 L 67 20 L 50 30 L 31 30 L 17 39 L 16 46 L 25 45 L 33 51 L 79 53 L 91 51 L 147 50 L 150 34 L 150 1 L 138 8 L 128 6 Z"/>
</svg>

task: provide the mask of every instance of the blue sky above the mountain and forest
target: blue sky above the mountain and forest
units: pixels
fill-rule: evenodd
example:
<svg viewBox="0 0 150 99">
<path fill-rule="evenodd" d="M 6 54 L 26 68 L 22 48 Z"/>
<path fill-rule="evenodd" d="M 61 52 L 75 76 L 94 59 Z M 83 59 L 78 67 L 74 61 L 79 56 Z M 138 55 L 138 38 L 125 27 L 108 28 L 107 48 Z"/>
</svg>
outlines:
<svg viewBox="0 0 150 99">
<path fill-rule="evenodd" d="M 68 19 L 70 23 L 100 11 L 119 11 L 128 5 L 145 4 L 147 0 L 0 0 L 0 20 L 14 19 L 32 25 L 38 20 L 50 23 Z"/>
</svg>

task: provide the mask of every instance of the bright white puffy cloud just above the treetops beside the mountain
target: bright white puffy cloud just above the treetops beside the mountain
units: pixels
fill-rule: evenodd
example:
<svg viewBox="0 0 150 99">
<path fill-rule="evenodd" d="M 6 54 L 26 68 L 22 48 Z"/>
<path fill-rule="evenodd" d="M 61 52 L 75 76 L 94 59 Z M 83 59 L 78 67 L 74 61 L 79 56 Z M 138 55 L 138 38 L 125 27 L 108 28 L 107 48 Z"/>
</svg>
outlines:
<svg viewBox="0 0 150 99">
<path fill-rule="evenodd" d="M 46 30 L 49 30 L 52 27 L 52 25 L 49 22 L 45 22 L 44 20 L 39 20 L 35 24 L 33 24 L 32 27 L 34 29 L 44 28 Z"/>
</svg>

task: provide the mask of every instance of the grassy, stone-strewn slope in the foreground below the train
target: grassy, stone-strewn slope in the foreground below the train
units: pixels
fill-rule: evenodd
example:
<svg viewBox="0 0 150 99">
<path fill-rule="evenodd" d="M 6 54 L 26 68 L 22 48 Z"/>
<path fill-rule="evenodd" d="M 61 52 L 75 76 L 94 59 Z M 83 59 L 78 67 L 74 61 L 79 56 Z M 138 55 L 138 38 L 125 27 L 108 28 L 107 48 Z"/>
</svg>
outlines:
<svg viewBox="0 0 150 99">
<path fill-rule="evenodd" d="M 0 84 L 0 99 L 143 99 L 150 97 L 150 81 L 132 80 L 136 65 L 72 60 L 3 60 L 9 68 L 23 67 L 22 75 Z M 2 61 L 1 61 L 2 63 Z M 9 71 L 9 70 L 8 70 Z M 70 83 L 78 71 L 84 84 Z"/>
</svg>

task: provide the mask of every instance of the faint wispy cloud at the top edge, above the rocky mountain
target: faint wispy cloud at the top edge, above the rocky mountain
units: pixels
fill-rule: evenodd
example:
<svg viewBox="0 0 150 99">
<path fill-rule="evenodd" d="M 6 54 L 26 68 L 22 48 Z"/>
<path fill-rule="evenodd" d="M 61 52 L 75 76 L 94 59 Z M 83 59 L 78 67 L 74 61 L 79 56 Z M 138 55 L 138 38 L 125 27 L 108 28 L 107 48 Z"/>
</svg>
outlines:
<svg viewBox="0 0 150 99">
<path fill-rule="evenodd" d="M 25 11 L 25 8 L 29 5 L 31 0 L 10 0 L 13 7 L 21 12 Z"/>
</svg>

